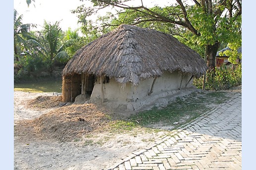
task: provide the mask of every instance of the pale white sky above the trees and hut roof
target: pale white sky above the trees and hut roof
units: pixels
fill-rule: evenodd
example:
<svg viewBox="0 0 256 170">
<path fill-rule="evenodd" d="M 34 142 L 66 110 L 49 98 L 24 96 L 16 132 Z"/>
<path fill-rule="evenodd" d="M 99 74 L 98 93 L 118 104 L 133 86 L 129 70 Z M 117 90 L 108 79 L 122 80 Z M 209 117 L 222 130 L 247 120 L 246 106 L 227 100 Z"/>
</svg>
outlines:
<svg viewBox="0 0 256 170">
<path fill-rule="evenodd" d="M 147 7 L 152 7 L 154 5 L 168 5 L 170 1 L 173 0 L 143 0 L 143 3 Z M 90 1 L 86 0 L 84 2 L 80 0 L 35 0 L 28 7 L 26 0 L 14 0 L 14 9 L 17 10 L 18 15 L 23 15 L 23 24 L 37 24 L 38 27 L 35 30 L 41 30 L 44 20 L 46 20 L 51 23 L 60 21 L 60 28 L 65 31 L 68 28 L 75 30 L 80 27 L 77 24 L 76 14 L 72 14 L 71 10 L 76 9 L 81 4 L 92 5 Z M 141 0 L 131 0 L 127 4 L 141 5 Z M 103 15 L 105 11 L 104 9 L 101 10 L 99 15 Z"/>
</svg>

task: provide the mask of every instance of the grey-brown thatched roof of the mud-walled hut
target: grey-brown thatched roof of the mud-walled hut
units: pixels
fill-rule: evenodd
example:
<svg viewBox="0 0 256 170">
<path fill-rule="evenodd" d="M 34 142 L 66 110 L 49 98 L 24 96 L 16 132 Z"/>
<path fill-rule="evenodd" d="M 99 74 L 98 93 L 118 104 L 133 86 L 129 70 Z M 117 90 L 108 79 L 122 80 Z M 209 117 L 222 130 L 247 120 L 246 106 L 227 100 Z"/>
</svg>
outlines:
<svg viewBox="0 0 256 170">
<path fill-rule="evenodd" d="M 120 25 L 76 52 L 62 75 L 89 73 L 138 85 L 141 79 L 178 70 L 196 77 L 205 73 L 203 58 L 170 34 Z"/>
</svg>

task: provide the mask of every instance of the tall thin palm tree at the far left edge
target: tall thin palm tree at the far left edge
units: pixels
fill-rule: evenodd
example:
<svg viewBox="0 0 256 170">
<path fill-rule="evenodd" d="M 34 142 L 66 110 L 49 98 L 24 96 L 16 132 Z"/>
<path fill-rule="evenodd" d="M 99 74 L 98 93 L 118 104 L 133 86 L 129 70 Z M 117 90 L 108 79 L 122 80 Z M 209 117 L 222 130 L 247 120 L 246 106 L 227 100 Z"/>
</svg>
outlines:
<svg viewBox="0 0 256 170">
<path fill-rule="evenodd" d="M 19 61 L 19 53 L 21 53 L 21 49 L 26 45 L 26 40 L 32 38 L 29 33 L 31 27 L 35 27 L 34 24 L 23 24 L 22 17 L 23 15 L 17 16 L 18 12 L 14 9 L 14 56 L 15 60 Z M 23 47 L 22 47 L 23 45 Z"/>
</svg>

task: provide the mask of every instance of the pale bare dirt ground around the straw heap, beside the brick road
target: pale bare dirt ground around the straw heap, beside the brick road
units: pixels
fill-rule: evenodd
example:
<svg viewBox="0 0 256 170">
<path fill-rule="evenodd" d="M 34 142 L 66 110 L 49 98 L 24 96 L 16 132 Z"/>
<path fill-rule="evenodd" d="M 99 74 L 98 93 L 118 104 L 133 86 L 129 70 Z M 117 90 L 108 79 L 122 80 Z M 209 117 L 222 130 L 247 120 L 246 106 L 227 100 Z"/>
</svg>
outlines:
<svg viewBox="0 0 256 170">
<path fill-rule="evenodd" d="M 41 96 L 53 93 L 14 91 L 14 170 L 102 170 L 166 133 L 144 129 L 114 134 L 95 132 L 72 141 L 31 136 L 20 124 L 24 125 L 24 120 L 30 124 L 59 107 L 33 108 L 31 101 Z"/>
</svg>

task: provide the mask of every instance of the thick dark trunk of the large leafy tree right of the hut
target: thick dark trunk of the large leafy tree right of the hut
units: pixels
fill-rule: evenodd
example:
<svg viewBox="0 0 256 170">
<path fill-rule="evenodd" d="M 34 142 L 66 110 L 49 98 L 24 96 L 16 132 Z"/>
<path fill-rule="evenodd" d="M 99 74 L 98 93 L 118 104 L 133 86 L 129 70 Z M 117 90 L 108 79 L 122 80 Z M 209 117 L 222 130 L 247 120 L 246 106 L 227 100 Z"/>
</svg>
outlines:
<svg viewBox="0 0 256 170">
<path fill-rule="evenodd" d="M 206 64 L 209 70 L 215 68 L 215 58 L 219 48 L 220 42 L 215 42 L 213 45 L 206 45 L 205 54 L 206 54 Z"/>
</svg>

